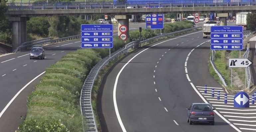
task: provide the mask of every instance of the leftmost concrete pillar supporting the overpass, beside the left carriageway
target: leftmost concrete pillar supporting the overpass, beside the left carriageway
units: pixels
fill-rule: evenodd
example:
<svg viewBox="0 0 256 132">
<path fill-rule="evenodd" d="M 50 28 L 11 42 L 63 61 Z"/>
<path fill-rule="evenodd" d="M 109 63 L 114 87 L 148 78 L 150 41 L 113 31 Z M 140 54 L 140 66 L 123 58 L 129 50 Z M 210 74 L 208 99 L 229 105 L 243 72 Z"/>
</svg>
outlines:
<svg viewBox="0 0 256 132">
<path fill-rule="evenodd" d="M 12 21 L 12 50 L 27 42 L 27 20 L 29 17 L 9 17 Z"/>
</svg>

